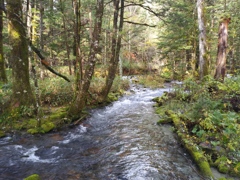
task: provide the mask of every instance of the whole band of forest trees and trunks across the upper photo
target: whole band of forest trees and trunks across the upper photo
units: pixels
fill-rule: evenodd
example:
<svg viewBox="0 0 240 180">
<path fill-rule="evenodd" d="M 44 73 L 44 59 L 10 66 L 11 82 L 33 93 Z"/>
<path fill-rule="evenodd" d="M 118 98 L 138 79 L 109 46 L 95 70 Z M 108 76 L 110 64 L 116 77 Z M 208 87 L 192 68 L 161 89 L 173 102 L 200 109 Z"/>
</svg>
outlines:
<svg viewBox="0 0 240 180">
<path fill-rule="evenodd" d="M 41 67 L 39 61 L 34 61 L 37 56 L 28 54 L 27 39 L 39 53 L 49 57 L 44 60 L 50 66 L 68 66 L 69 76 L 74 75 L 76 97 L 70 108 L 73 114 L 86 105 L 96 65 L 105 78 L 99 92 L 102 100 L 107 98 L 118 73 L 119 58 L 125 67 L 133 62 L 144 64 L 145 72 L 148 64 L 158 63 L 162 71 L 171 72 L 173 79 L 189 76 L 202 79 L 214 73 L 216 79 L 223 79 L 227 66 L 234 72 L 240 65 L 238 1 L 7 0 L 4 4 L 0 0 L 0 3 L 0 81 L 6 82 L 6 61 L 13 70 L 14 99 L 17 101 L 19 93 L 23 94 L 19 104 L 35 101 L 30 92 L 29 59 L 33 66 Z M 9 39 L 2 35 L 8 33 L 3 25 L 7 24 L 3 14 L 6 4 Z M 229 12 L 233 16 L 231 29 L 227 35 L 228 23 L 223 21 L 220 27 L 225 28 L 220 28 L 221 33 L 219 30 L 218 43 L 218 19 Z M 30 93 L 27 97 L 26 92 Z"/>
</svg>

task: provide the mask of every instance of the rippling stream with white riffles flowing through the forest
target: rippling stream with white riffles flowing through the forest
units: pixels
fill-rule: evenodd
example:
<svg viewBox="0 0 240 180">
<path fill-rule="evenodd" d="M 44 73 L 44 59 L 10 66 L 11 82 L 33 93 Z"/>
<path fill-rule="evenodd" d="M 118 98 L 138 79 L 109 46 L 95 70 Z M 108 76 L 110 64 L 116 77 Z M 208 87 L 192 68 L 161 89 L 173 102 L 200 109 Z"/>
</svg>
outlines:
<svg viewBox="0 0 240 180">
<path fill-rule="evenodd" d="M 132 87 L 67 131 L 0 139 L 0 179 L 202 179 L 171 127 L 156 125 L 151 100 L 166 90 Z"/>
</svg>

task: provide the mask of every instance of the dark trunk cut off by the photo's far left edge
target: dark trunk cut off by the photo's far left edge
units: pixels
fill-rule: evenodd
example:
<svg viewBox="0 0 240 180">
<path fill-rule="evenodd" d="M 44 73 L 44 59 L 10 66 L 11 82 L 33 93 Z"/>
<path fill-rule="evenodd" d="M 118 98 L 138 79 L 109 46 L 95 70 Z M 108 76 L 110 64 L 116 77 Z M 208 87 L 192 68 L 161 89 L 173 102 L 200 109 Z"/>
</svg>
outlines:
<svg viewBox="0 0 240 180">
<path fill-rule="evenodd" d="M 4 6 L 4 0 L 0 0 L 0 6 Z M 7 82 L 7 76 L 4 66 L 4 56 L 3 56 L 3 11 L 0 9 L 0 81 Z"/>
</svg>

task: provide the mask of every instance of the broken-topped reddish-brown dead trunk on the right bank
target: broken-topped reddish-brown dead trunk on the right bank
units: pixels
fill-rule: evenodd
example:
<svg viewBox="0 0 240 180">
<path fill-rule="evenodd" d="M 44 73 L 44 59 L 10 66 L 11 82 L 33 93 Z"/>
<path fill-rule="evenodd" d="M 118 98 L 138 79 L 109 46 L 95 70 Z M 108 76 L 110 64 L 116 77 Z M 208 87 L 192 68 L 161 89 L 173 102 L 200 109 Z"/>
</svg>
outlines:
<svg viewBox="0 0 240 180">
<path fill-rule="evenodd" d="M 227 38 L 228 38 L 228 24 L 231 18 L 224 18 L 219 25 L 218 31 L 218 52 L 217 52 L 217 62 L 216 71 L 214 78 L 219 80 L 221 78 L 224 81 L 224 76 L 226 73 L 226 59 L 227 59 Z"/>
</svg>

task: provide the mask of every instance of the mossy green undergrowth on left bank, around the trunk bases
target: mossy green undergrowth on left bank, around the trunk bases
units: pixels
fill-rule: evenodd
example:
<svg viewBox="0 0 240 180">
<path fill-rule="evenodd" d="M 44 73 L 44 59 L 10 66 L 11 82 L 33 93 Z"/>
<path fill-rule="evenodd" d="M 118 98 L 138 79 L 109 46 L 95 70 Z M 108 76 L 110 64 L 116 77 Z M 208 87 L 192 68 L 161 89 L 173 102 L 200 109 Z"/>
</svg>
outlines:
<svg viewBox="0 0 240 180">
<path fill-rule="evenodd" d="M 66 67 L 63 67 L 62 69 L 58 68 L 58 71 L 60 71 L 62 74 L 67 74 Z M 105 78 L 103 75 L 101 75 L 100 71 L 100 69 L 96 69 L 96 75 L 92 78 L 87 97 L 88 107 L 98 106 L 101 99 L 99 97 L 101 96 L 101 90 L 105 85 Z M 98 76 L 98 74 L 100 75 Z M 49 126 L 48 122 L 55 119 L 51 115 L 54 113 L 56 114 L 56 118 L 59 119 L 58 122 L 54 122 L 55 125 L 61 124 L 62 122 L 69 123 L 68 120 L 62 117 L 62 111 L 64 110 L 66 112 L 66 107 L 68 107 L 73 101 L 75 97 L 74 92 L 76 86 L 74 76 L 70 76 L 68 78 L 71 80 L 71 82 L 67 82 L 53 74 L 46 74 L 45 78 L 43 79 L 38 77 L 38 88 L 34 87 L 34 81 L 31 79 L 32 89 L 35 95 L 38 94 L 40 100 L 38 117 L 36 117 L 35 107 L 21 106 L 12 110 L 8 110 L 7 107 L 11 102 L 12 84 L 11 81 L 9 81 L 7 84 L 0 84 L 0 137 L 1 134 L 4 135 L 4 131 L 27 130 L 36 128 L 36 119 L 38 118 L 41 118 L 43 122 L 41 126 L 43 126 L 44 128 L 42 129 L 45 130 L 42 132 L 47 132 L 49 130 L 49 127 L 55 127 L 52 125 Z M 124 92 L 124 90 L 128 89 L 128 87 L 128 81 L 117 77 L 114 80 L 108 101 L 117 100 L 117 98 Z M 28 123 L 30 122 L 29 120 L 34 123 Z M 34 129 L 34 133 L 35 131 L 36 130 Z"/>
</svg>

